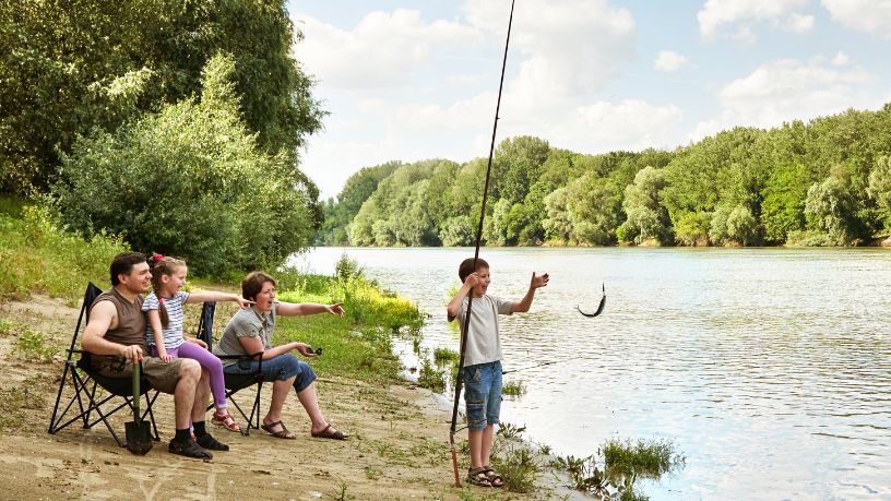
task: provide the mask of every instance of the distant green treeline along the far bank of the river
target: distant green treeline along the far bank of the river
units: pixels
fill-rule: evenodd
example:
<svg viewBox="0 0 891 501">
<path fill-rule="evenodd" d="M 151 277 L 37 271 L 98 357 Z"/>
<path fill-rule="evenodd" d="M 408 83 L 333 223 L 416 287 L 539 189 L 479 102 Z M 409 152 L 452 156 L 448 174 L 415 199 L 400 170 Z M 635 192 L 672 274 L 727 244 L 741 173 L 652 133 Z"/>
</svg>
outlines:
<svg viewBox="0 0 891 501">
<path fill-rule="evenodd" d="M 519 136 L 496 151 L 489 246 L 850 246 L 891 228 L 891 104 L 736 128 L 675 151 L 585 155 Z M 393 162 L 324 203 L 320 244 L 470 246 L 486 159 Z"/>
</svg>

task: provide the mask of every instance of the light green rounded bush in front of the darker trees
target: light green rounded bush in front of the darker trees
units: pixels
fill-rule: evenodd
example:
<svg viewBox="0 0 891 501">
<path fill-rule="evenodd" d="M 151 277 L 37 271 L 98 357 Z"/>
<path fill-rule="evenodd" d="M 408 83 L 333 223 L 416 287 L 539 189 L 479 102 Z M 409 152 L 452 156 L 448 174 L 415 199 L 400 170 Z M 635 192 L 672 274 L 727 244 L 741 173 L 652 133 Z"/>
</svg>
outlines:
<svg viewBox="0 0 891 501">
<path fill-rule="evenodd" d="M 274 266 L 311 239 L 314 199 L 284 154 L 257 145 L 238 112 L 234 62 L 216 56 L 200 103 L 78 140 L 54 187 L 62 220 L 86 236 L 186 259 L 199 275 Z"/>
</svg>

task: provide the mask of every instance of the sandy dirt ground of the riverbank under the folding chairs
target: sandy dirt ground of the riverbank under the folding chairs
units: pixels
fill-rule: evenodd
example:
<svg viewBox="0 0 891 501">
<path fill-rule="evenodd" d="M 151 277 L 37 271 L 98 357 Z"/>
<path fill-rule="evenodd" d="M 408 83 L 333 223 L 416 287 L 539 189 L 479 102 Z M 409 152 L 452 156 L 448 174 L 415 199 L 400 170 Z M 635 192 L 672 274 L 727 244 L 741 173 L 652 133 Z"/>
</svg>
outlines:
<svg viewBox="0 0 891 501">
<path fill-rule="evenodd" d="M 80 308 L 35 296 L 27 302 L 0 303 L 0 321 L 27 324 L 68 348 Z M 13 329 L 14 331 L 14 329 Z M 19 335 L 0 335 L 0 499 L 543 499 L 535 494 L 452 486 L 448 448 L 450 414 L 429 392 L 408 383 L 375 387 L 324 378 L 317 383 L 325 417 L 349 440 L 313 439 L 297 398 L 285 404 L 284 422 L 297 440 L 275 439 L 253 430 L 249 437 L 214 429 L 230 446 L 211 461 L 167 452 L 173 437 L 173 397 L 154 406 L 161 442 L 145 456 L 117 445 L 102 424 L 74 424 L 56 434 L 47 428 L 62 359 L 33 362 L 13 353 Z M 62 350 L 63 351 L 63 350 Z M 70 384 L 70 383 L 69 383 Z M 69 386 L 70 387 L 70 386 Z M 70 395 L 70 393 L 66 393 Z M 261 409 L 270 402 L 264 389 Z M 242 397 L 243 399 L 243 397 Z M 233 408 L 233 413 L 235 409 Z M 121 440 L 124 421 L 112 426 Z M 239 419 L 241 421 L 241 419 Z M 241 422 L 242 427 L 245 426 Z M 210 425 L 209 425 L 210 426 Z M 466 455 L 460 461 L 466 475 Z"/>
</svg>

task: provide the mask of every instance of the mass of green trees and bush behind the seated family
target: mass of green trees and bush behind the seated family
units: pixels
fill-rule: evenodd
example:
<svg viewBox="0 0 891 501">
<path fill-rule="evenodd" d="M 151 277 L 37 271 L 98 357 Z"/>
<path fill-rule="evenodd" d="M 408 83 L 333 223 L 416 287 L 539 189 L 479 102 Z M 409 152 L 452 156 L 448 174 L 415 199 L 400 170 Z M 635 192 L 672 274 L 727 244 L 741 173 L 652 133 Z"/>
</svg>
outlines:
<svg viewBox="0 0 891 501">
<path fill-rule="evenodd" d="M 325 111 L 283 0 L 0 3 L 0 193 L 199 273 L 276 264 L 322 220 Z"/>
</svg>

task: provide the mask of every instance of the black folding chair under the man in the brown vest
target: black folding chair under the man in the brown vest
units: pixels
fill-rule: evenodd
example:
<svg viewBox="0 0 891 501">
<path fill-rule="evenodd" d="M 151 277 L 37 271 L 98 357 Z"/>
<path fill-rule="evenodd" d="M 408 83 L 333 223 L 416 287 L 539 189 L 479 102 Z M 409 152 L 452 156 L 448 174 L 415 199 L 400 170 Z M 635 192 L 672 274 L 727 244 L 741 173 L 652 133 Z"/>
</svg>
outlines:
<svg viewBox="0 0 891 501">
<path fill-rule="evenodd" d="M 59 430 L 67 428 L 74 421 L 83 422 L 84 429 L 93 428 L 99 421 L 105 424 L 111 437 L 118 442 L 118 445 L 124 446 L 124 442 L 120 440 L 118 433 L 108 422 L 108 418 L 115 413 L 126 408 L 130 413 L 130 418 L 133 417 L 133 380 L 131 378 L 108 378 L 96 372 L 91 365 L 91 354 L 82 349 L 74 349 L 78 343 L 78 334 L 81 332 L 81 325 L 86 327 L 90 322 L 90 309 L 93 301 L 102 294 L 102 289 L 90 283 L 84 293 L 84 301 L 81 307 L 81 314 L 78 318 L 78 326 L 74 327 L 74 335 L 71 336 L 71 346 L 68 348 L 68 359 L 62 369 L 62 379 L 59 381 L 59 393 L 56 395 L 56 405 L 52 407 L 52 417 L 49 419 L 49 433 L 55 434 Z M 70 378 L 69 378 L 70 375 Z M 70 379 L 70 384 L 69 384 Z M 66 389 L 69 389 L 67 392 Z M 102 391 L 99 391 L 102 390 Z M 141 419 L 145 416 L 150 417 L 152 421 L 152 430 L 154 431 L 154 439 L 161 440 L 155 425 L 155 415 L 152 411 L 152 405 L 158 396 L 158 391 L 155 391 L 153 396 L 148 396 L 151 391 L 148 380 L 144 377 L 140 378 L 140 393 L 145 396 L 147 405 L 144 406 Z M 62 406 L 62 394 L 66 395 L 67 404 Z M 123 402 L 115 404 L 111 401 L 122 398 Z M 108 405 L 106 405 L 108 404 Z M 60 410 L 61 409 L 61 410 Z"/>
</svg>

